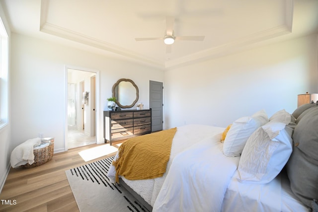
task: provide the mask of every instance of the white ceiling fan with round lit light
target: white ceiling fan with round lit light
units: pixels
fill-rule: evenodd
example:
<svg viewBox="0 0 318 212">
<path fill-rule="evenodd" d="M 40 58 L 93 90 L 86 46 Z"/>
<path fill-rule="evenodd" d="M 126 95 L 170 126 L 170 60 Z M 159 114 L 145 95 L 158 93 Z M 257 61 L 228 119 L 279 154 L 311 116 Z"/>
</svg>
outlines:
<svg viewBox="0 0 318 212">
<path fill-rule="evenodd" d="M 163 40 L 167 45 L 171 45 L 175 40 L 184 40 L 184 41 L 203 41 L 205 36 L 175 36 L 173 31 L 174 17 L 166 16 L 166 33 L 163 37 L 157 38 L 135 38 L 136 41 L 149 41 L 149 40 Z M 167 46 L 167 53 L 171 52 L 171 47 Z"/>
</svg>

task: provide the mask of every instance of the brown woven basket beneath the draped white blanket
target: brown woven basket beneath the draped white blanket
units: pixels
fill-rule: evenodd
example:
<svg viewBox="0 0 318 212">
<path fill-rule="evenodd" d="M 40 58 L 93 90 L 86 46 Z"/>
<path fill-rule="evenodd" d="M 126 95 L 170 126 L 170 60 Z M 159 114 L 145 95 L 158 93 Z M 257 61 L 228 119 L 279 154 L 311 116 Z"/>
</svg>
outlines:
<svg viewBox="0 0 318 212">
<path fill-rule="evenodd" d="M 53 157 L 53 151 L 54 151 L 54 138 L 45 138 L 41 141 L 51 141 L 50 145 L 40 148 L 40 149 L 34 149 L 34 163 L 32 164 L 25 164 L 21 167 L 23 168 L 32 168 L 39 165 L 42 165 L 43 163 L 46 163 L 47 161 L 51 160 Z"/>
</svg>

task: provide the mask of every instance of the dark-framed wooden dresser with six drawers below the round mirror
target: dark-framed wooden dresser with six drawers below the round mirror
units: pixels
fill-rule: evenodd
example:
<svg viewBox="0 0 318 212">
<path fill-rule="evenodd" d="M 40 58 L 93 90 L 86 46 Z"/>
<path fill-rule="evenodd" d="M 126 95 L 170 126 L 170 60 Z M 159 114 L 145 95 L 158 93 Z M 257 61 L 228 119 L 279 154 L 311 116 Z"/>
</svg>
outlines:
<svg viewBox="0 0 318 212">
<path fill-rule="evenodd" d="M 151 109 L 104 111 L 104 141 L 129 139 L 151 133 Z"/>
</svg>

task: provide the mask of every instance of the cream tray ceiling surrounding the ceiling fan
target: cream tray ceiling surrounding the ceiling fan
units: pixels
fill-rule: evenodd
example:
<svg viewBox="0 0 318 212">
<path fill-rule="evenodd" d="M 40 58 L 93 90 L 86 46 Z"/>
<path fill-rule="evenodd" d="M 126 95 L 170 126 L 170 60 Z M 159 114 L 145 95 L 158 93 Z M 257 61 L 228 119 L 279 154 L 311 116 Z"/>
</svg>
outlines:
<svg viewBox="0 0 318 212">
<path fill-rule="evenodd" d="M 13 32 L 169 69 L 318 31 L 317 0 L 1 0 Z M 16 15 L 19 14 L 19 15 Z M 163 40 L 173 16 L 171 53 Z"/>
</svg>

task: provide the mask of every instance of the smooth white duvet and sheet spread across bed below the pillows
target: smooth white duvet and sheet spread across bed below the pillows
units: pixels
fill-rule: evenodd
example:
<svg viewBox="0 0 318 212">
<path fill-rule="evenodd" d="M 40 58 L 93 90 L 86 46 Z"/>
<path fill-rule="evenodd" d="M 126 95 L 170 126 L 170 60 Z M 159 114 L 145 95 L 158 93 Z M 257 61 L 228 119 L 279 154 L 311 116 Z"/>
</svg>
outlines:
<svg viewBox="0 0 318 212">
<path fill-rule="evenodd" d="M 239 159 L 225 156 L 217 137 L 181 152 L 173 159 L 153 212 L 308 212 L 284 172 L 267 184 L 239 182 Z"/>
</svg>

